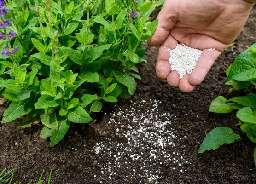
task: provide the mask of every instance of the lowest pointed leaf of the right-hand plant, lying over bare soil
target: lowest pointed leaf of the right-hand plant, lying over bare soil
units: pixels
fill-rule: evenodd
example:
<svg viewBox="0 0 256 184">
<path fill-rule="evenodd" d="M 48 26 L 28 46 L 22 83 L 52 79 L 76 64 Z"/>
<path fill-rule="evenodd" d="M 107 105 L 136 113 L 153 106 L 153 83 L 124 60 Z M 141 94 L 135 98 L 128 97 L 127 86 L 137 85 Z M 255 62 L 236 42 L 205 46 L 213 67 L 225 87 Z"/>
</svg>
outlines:
<svg viewBox="0 0 256 184">
<path fill-rule="evenodd" d="M 204 153 L 206 150 L 216 150 L 222 144 L 230 144 L 239 139 L 239 135 L 233 133 L 231 128 L 217 127 L 206 135 L 203 144 L 200 146 L 198 153 Z"/>
</svg>

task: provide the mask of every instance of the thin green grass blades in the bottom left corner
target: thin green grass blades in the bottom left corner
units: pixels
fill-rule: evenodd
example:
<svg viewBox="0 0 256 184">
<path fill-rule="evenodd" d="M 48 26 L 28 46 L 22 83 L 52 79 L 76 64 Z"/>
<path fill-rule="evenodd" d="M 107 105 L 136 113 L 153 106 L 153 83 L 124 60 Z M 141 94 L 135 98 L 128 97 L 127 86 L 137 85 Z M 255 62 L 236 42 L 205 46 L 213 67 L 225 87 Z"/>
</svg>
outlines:
<svg viewBox="0 0 256 184">
<path fill-rule="evenodd" d="M 18 168 L 17 168 L 18 169 Z M 17 169 L 12 169 L 9 172 L 6 172 L 6 169 L 0 171 L 0 184 L 12 184 L 14 173 L 17 171 Z M 42 177 L 43 177 L 44 171 L 42 172 L 38 182 L 36 184 L 43 184 Z M 51 177 L 52 177 L 52 170 L 50 172 L 50 176 L 48 178 L 48 183 L 51 183 Z M 14 182 L 13 184 L 21 184 L 20 182 Z M 28 183 L 32 184 L 32 180 Z M 35 183 L 34 183 L 35 184 Z"/>
</svg>

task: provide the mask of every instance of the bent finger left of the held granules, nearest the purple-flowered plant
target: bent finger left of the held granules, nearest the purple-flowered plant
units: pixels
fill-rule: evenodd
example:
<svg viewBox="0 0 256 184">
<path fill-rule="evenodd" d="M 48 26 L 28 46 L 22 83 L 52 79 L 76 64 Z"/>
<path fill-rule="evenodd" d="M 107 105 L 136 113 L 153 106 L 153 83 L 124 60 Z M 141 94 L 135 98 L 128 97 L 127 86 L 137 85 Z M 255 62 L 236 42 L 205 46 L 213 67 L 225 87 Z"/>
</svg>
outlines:
<svg viewBox="0 0 256 184">
<path fill-rule="evenodd" d="M 160 79 L 167 79 L 171 72 L 171 65 L 169 64 L 170 55 L 167 49 L 174 49 L 177 43 L 178 41 L 169 35 L 158 49 L 156 73 Z"/>
</svg>

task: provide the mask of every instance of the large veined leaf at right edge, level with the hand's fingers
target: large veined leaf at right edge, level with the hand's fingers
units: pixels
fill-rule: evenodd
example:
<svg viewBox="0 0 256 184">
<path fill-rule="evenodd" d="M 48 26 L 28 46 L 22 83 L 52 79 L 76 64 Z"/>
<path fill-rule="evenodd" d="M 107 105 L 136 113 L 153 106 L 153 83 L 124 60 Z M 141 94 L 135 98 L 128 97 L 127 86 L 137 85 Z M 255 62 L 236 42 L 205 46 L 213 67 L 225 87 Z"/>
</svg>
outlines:
<svg viewBox="0 0 256 184">
<path fill-rule="evenodd" d="M 227 81 L 250 81 L 256 78 L 256 54 L 247 51 L 240 54 L 232 63 Z"/>
</svg>

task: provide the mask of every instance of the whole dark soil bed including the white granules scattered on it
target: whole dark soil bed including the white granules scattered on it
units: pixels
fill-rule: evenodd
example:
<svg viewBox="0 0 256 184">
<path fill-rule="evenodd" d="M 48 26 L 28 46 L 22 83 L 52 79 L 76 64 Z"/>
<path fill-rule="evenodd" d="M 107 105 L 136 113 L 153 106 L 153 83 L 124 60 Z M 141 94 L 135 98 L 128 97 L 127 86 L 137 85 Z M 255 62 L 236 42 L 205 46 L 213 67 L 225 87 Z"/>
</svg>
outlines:
<svg viewBox="0 0 256 184">
<path fill-rule="evenodd" d="M 72 124 L 66 137 L 49 148 L 38 126 L 20 129 L 0 125 L 0 169 L 23 166 L 15 175 L 22 183 L 45 178 L 52 184 L 232 183 L 254 184 L 253 145 L 239 142 L 198 154 L 205 135 L 215 127 L 231 127 L 238 120 L 209 113 L 219 94 L 228 96 L 225 70 L 239 53 L 256 41 L 256 8 L 233 46 L 215 62 L 203 83 L 189 93 L 168 86 L 155 74 L 157 48 L 147 47 L 148 63 L 139 66 L 134 96 L 105 104 L 89 124 Z M 241 92 L 243 93 L 243 92 Z M 3 114 L 5 105 L 0 107 Z M 178 160 L 178 161 L 177 161 Z"/>
</svg>

